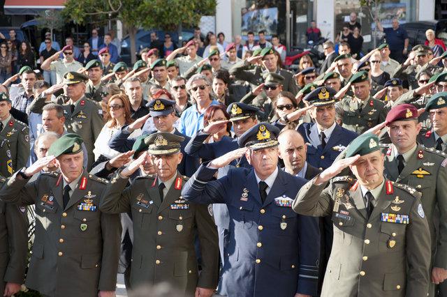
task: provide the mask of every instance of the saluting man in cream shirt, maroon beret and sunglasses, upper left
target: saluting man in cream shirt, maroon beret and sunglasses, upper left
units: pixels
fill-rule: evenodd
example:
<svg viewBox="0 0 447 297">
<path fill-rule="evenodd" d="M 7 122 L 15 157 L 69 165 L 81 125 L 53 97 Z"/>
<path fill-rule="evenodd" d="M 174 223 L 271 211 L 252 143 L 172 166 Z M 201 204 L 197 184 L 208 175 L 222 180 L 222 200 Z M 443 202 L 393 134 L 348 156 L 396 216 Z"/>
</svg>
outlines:
<svg viewBox="0 0 447 297">
<path fill-rule="evenodd" d="M 56 84 L 61 84 L 64 80 L 64 74 L 70 71 L 78 71 L 82 68 L 82 64 L 75 61 L 73 56 L 73 46 L 66 45 L 62 50 L 50 56 L 50 58 L 43 61 L 41 65 L 42 70 L 56 72 Z M 59 59 L 59 55 L 63 54 L 64 59 Z"/>
</svg>

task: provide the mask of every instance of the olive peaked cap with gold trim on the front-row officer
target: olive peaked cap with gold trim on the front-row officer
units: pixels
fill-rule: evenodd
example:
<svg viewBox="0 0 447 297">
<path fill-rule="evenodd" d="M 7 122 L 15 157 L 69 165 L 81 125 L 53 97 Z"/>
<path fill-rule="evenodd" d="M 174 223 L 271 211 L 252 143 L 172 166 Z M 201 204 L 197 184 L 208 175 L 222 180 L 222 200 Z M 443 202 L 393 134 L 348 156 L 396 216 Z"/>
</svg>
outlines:
<svg viewBox="0 0 447 297">
<path fill-rule="evenodd" d="M 145 138 L 145 143 L 149 145 L 147 149 L 151 155 L 170 155 L 180 151 L 180 143 L 184 137 L 168 132 L 158 132 Z"/>
</svg>

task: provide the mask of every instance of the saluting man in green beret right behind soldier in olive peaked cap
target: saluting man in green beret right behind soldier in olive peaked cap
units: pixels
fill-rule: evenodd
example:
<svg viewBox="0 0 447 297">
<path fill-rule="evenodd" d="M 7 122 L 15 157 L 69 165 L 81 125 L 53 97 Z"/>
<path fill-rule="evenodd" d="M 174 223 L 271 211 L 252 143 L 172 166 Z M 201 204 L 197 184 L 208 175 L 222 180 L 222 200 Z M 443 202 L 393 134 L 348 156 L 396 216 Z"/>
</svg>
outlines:
<svg viewBox="0 0 447 297">
<path fill-rule="evenodd" d="M 264 82 L 263 73 L 276 73 L 284 77 L 283 91 L 289 91 L 294 95 L 298 93 L 298 85 L 293 78 L 293 73 L 288 70 L 280 69 L 277 65 L 278 57 L 274 54 L 271 47 L 265 47 L 258 56 L 251 56 L 235 66 L 230 68 L 230 75 L 236 79 L 244 80 L 252 84 L 252 89 Z M 262 62 L 262 66 L 255 66 L 250 70 L 250 66 L 258 61 Z"/>
</svg>

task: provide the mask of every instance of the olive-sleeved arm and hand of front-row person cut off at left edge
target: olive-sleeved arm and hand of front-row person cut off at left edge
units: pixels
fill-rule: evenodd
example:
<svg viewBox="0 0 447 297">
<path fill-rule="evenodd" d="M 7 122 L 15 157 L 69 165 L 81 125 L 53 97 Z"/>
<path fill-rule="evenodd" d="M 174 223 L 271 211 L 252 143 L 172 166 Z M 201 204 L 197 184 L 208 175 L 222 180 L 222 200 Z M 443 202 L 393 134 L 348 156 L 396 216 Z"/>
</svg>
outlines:
<svg viewBox="0 0 447 297">
<path fill-rule="evenodd" d="M 6 179 L 0 176 L 0 188 Z M 24 281 L 28 256 L 26 208 L 0 201 L 0 293 L 13 296 Z"/>
</svg>

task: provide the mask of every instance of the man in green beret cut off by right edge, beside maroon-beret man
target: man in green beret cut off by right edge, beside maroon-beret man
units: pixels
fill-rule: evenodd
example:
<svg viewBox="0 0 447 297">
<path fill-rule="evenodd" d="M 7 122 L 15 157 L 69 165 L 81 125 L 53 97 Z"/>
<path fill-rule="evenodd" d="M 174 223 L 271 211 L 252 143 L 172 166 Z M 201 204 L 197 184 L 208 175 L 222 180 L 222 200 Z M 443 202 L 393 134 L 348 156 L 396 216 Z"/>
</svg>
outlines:
<svg viewBox="0 0 447 297">
<path fill-rule="evenodd" d="M 447 151 L 447 92 L 434 94 L 425 105 L 425 112 L 430 114 L 432 128 L 427 132 L 421 130 L 418 143 L 426 148 Z"/>
</svg>

